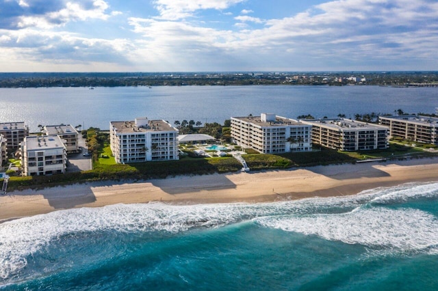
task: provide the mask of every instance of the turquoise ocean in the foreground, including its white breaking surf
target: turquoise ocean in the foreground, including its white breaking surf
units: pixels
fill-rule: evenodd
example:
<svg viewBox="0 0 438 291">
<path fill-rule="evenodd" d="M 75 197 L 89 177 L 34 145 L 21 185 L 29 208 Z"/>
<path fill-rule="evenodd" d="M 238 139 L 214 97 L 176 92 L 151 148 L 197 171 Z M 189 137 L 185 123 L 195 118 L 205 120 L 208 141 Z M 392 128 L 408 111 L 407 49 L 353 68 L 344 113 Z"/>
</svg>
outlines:
<svg viewBox="0 0 438 291">
<path fill-rule="evenodd" d="M 438 290 L 438 182 L 0 224 L 0 290 Z"/>
</svg>

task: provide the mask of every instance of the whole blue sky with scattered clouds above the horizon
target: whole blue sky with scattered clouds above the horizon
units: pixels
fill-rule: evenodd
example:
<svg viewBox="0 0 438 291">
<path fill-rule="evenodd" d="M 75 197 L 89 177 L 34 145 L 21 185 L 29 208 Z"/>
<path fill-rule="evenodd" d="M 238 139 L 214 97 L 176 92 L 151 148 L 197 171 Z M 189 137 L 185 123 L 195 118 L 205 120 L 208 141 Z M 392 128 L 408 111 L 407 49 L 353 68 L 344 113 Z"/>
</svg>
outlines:
<svg viewBox="0 0 438 291">
<path fill-rule="evenodd" d="M 0 72 L 438 70 L 437 0 L 0 0 Z"/>
</svg>

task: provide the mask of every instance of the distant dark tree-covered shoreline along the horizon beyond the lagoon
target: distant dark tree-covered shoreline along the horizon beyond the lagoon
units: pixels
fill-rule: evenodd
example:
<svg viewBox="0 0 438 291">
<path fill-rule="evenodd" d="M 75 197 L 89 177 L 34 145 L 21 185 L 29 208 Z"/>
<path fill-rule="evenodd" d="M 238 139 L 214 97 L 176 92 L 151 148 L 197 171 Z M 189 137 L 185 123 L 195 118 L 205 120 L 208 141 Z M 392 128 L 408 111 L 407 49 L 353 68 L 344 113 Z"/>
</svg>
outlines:
<svg viewBox="0 0 438 291">
<path fill-rule="evenodd" d="M 0 72 L 0 87 L 438 86 L 438 72 Z"/>
</svg>

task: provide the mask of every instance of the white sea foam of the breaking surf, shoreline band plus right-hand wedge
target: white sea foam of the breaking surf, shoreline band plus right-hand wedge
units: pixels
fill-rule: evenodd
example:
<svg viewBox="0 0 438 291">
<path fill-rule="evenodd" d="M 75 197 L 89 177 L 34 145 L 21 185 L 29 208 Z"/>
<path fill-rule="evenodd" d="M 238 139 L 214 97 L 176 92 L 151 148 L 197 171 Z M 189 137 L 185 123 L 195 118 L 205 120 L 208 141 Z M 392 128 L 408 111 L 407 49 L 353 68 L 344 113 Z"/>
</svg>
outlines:
<svg viewBox="0 0 438 291">
<path fill-rule="evenodd" d="M 256 219 L 266 227 L 316 234 L 346 243 L 400 249 L 437 245 L 438 223 L 432 215 L 420 210 L 363 207 L 370 205 L 369 202 L 379 201 L 379 197 L 391 197 L 395 193 L 404 193 L 414 199 L 415 194 L 411 195 L 409 189 L 417 186 L 424 191 L 415 189 L 412 192 L 417 191 L 421 197 L 430 193 L 436 195 L 438 189 L 437 183 L 408 184 L 364 191 L 359 195 L 268 204 L 118 204 L 61 210 L 8 221 L 0 224 L 0 281 L 19 273 L 27 265 L 27 258 L 52 240 L 77 232 L 115 230 L 172 234 L 194 227 L 220 227 Z M 354 209 L 357 210 L 352 211 Z"/>
</svg>

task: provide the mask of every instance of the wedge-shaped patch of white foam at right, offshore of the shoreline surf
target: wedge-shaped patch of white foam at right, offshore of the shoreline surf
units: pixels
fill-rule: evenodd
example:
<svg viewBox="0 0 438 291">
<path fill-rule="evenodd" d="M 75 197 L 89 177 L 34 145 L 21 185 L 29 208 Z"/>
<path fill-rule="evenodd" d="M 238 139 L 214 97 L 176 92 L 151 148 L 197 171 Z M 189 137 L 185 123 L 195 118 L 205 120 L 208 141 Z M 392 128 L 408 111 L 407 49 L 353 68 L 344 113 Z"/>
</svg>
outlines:
<svg viewBox="0 0 438 291">
<path fill-rule="evenodd" d="M 358 208 L 342 214 L 262 217 L 255 221 L 287 232 L 374 248 L 411 251 L 438 245 L 437 218 L 412 208 Z"/>
</svg>

